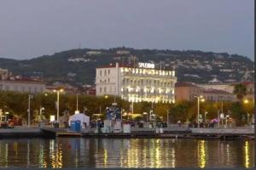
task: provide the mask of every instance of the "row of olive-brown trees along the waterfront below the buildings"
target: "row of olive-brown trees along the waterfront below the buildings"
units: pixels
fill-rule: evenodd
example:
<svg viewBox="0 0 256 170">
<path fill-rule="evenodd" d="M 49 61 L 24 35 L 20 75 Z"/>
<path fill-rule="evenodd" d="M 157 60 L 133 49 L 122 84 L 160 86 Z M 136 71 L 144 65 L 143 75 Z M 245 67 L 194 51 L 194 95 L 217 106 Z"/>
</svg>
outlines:
<svg viewBox="0 0 256 170">
<path fill-rule="evenodd" d="M 28 108 L 28 95 L 15 92 L 3 92 L 0 91 L 0 109 L 9 111 L 11 116 L 19 116 L 24 119 L 27 118 Z M 64 111 L 68 111 L 70 115 L 73 115 L 77 110 L 76 95 L 61 94 L 60 95 L 60 116 Z M 50 115 L 55 115 L 55 101 L 56 94 L 36 94 L 31 99 L 31 113 L 32 117 L 36 117 L 40 107 L 44 107 L 44 116 L 49 119 Z M 102 113 L 105 114 L 105 109 L 109 105 L 112 105 L 114 101 L 113 96 L 109 96 L 108 99 L 98 96 L 79 95 L 79 111 L 85 111 L 88 116 L 93 114 Z M 118 103 L 122 110 L 130 111 L 131 103 L 116 97 L 115 102 Z M 154 114 L 163 118 L 163 121 L 167 121 L 167 113 L 169 114 L 169 122 L 176 123 L 178 120 L 181 122 L 193 122 L 197 118 L 197 103 L 195 101 L 181 101 L 175 104 L 154 104 L 142 102 L 134 103 L 134 113 L 142 114 L 148 112 L 153 106 Z M 223 108 L 222 108 L 223 106 Z M 253 102 L 247 104 L 244 103 L 231 103 L 224 102 L 204 102 L 201 103 L 200 114 L 204 116 L 207 112 L 207 119 L 213 119 L 218 117 L 218 112 L 224 111 L 225 114 L 230 113 L 230 117 L 236 120 L 238 125 L 245 124 L 247 122 L 247 114 L 252 116 L 253 114 Z"/>
</svg>

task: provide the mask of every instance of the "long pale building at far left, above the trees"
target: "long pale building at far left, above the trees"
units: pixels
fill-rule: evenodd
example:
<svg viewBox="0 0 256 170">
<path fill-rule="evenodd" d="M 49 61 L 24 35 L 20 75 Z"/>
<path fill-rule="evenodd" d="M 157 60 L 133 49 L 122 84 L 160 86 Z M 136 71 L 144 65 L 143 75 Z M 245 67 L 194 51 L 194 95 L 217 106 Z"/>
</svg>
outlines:
<svg viewBox="0 0 256 170">
<path fill-rule="evenodd" d="M 20 93 L 44 93 L 44 82 L 0 81 L 0 90 Z"/>
</svg>

